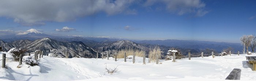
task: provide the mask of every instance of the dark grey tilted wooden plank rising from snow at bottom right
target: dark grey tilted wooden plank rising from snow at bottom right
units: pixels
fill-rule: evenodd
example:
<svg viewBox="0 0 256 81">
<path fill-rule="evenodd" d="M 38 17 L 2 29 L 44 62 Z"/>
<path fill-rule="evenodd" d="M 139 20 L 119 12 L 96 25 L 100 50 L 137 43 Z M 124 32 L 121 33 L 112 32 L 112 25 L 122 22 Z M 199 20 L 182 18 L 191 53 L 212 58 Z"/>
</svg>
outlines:
<svg viewBox="0 0 256 81">
<path fill-rule="evenodd" d="M 241 69 L 233 69 L 232 72 L 230 72 L 229 76 L 227 76 L 226 80 L 240 80 L 241 76 Z"/>
</svg>

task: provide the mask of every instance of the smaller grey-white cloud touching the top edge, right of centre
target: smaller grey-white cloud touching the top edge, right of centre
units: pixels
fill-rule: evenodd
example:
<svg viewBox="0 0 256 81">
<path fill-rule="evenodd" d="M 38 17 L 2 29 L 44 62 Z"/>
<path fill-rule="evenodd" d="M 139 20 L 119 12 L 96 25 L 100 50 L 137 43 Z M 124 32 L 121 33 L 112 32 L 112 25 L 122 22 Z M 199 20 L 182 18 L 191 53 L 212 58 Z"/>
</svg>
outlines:
<svg viewBox="0 0 256 81">
<path fill-rule="evenodd" d="M 177 15 L 193 13 L 195 16 L 204 16 L 208 13 L 204 10 L 206 4 L 201 0 L 147 0 L 144 6 L 149 7 L 156 3 L 164 4 L 167 11 Z"/>
</svg>

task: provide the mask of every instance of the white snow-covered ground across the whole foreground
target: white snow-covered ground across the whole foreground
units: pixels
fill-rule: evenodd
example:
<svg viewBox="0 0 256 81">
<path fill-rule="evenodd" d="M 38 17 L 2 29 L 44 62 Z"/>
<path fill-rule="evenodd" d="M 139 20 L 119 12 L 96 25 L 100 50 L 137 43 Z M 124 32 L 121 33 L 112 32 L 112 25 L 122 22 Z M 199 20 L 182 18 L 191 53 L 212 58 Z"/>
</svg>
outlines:
<svg viewBox="0 0 256 81">
<path fill-rule="evenodd" d="M 6 52 L 3 52 L 6 53 Z M 31 54 L 33 56 L 33 54 Z M 1 58 L 2 54 L 0 54 Z M 252 71 L 252 64 L 248 64 L 247 54 L 231 54 L 231 56 L 194 57 L 164 61 L 159 64 L 142 63 L 142 57 L 136 57 L 135 64 L 132 59 L 124 62 L 123 58 L 114 61 L 114 58 L 53 58 L 44 56 L 39 61 L 39 66 L 22 65 L 16 68 L 18 62 L 7 59 L 8 68 L 0 68 L 0 79 L 21 81 L 183 81 L 183 80 L 225 80 L 234 69 L 241 69 L 241 80 L 256 80 L 256 71 Z M 7 54 L 7 57 L 10 55 Z M 146 58 L 146 62 L 148 59 Z M 1 63 L 1 61 L 0 61 Z M 120 72 L 114 74 L 105 73 L 105 67 L 118 66 Z"/>
</svg>

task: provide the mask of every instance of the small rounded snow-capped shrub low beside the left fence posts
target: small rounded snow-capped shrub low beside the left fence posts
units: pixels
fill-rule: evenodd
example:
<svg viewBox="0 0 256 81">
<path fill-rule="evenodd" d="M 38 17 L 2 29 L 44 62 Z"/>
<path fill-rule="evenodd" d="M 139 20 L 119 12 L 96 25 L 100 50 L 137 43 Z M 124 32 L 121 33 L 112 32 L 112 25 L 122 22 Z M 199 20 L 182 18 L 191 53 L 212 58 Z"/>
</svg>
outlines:
<svg viewBox="0 0 256 81">
<path fill-rule="evenodd" d="M 33 57 L 31 56 L 23 56 L 22 58 L 22 62 L 25 62 L 25 64 L 28 64 L 30 66 L 35 66 L 38 64 L 37 60 L 35 60 Z"/>
</svg>

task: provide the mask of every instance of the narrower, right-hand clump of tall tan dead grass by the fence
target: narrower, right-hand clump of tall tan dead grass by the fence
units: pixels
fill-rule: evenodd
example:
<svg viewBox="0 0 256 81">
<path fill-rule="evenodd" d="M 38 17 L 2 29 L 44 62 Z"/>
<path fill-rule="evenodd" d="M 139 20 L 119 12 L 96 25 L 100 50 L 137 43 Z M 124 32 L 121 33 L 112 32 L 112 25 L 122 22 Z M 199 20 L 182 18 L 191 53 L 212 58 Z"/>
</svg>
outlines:
<svg viewBox="0 0 256 81">
<path fill-rule="evenodd" d="M 163 52 L 161 51 L 159 46 L 155 46 L 154 49 L 150 49 L 149 54 L 148 54 L 149 62 L 155 62 L 157 55 L 160 58 L 161 53 L 163 53 Z"/>
</svg>

